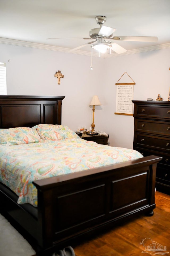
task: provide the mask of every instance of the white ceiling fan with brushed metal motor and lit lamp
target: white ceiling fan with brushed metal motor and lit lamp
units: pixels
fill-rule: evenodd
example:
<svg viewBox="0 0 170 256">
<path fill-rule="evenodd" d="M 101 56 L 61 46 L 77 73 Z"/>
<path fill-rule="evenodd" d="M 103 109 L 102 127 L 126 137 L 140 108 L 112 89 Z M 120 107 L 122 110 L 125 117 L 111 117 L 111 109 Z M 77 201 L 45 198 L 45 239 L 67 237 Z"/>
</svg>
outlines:
<svg viewBox="0 0 170 256">
<path fill-rule="evenodd" d="M 95 41 L 80 45 L 74 49 L 69 50 L 68 52 L 78 50 L 86 46 L 87 44 L 92 44 L 91 48 L 96 49 L 101 53 L 104 53 L 108 49 L 110 49 L 110 52 L 111 52 L 111 49 L 112 49 L 114 52 L 120 54 L 120 53 L 126 52 L 127 50 L 122 46 L 118 45 L 117 43 L 112 42 L 112 40 L 136 41 L 136 42 L 157 42 L 158 41 L 158 37 L 113 36 L 113 33 L 116 31 L 116 29 L 112 27 L 103 26 L 104 22 L 106 21 L 105 16 L 96 16 L 95 19 L 97 24 L 100 25 L 100 27 L 90 30 L 90 38 L 83 38 L 88 40 L 95 39 Z"/>
</svg>

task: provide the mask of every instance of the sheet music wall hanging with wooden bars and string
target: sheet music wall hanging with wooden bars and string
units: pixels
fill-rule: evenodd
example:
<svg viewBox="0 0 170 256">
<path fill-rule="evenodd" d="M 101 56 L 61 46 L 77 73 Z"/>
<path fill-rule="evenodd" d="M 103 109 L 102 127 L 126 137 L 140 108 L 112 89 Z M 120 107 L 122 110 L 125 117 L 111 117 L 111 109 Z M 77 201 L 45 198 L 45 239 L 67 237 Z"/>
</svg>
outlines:
<svg viewBox="0 0 170 256">
<path fill-rule="evenodd" d="M 133 115 L 132 100 L 133 100 L 133 86 L 135 85 L 135 82 L 129 75 L 127 77 L 127 75 L 128 73 L 125 72 L 116 83 L 117 85 L 116 112 L 114 113 L 116 115 Z M 129 78 L 131 79 L 129 83 L 123 82 L 123 81 L 128 81 Z M 122 80 L 121 83 L 120 83 L 120 80 Z"/>
</svg>

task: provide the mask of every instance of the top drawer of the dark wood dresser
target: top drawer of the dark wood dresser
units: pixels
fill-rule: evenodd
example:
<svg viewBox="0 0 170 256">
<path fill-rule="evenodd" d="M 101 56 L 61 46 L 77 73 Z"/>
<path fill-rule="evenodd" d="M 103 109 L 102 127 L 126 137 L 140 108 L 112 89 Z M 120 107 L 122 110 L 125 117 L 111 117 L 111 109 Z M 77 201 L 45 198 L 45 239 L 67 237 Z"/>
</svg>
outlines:
<svg viewBox="0 0 170 256">
<path fill-rule="evenodd" d="M 160 105 L 137 105 L 134 111 L 135 117 L 144 118 L 166 118 L 170 119 L 170 106 L 160 106 Z"/>
</svg>

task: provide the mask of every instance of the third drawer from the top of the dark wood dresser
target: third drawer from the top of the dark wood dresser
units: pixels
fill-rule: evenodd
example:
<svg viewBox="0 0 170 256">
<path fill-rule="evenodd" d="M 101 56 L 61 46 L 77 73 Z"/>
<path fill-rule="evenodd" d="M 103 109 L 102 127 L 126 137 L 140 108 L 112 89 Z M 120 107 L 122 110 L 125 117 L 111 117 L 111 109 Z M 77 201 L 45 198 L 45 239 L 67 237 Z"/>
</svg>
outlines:
<svg viewBox="0 0 170 256">
<path fill-rule="evenodd" d="M 136 133 L 134 141 L 134 147 L 170 152 L 170 138 Z"/>
</svg>

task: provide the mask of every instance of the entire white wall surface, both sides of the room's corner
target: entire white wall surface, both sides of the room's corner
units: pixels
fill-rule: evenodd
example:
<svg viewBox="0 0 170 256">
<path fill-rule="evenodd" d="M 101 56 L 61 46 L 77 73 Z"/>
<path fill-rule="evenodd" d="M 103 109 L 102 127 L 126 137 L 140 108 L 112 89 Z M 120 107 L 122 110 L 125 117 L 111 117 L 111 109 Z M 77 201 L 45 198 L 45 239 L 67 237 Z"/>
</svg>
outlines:
<svg viewBox="0 0 170 256">
<path fill-rule="evenodd" d="M 10 62 L 8 62 L 10 59 Z M 133 148 L 132 116 L 114 115 L 116 85 L 126 71 L 135 81 L 134 100 L 166 101 L 170 86 L 170 49 L 122 55 L 113 58 L 91 57 L 52 50 L 0 44 L 0 61 L 7 64 L 8 95 L 66 96 L 62 103 L 62 124 L 74 131 L 91 126 L 93 95 L 102 106 L 95 107 L 95 130 L 109 134 L 111 146 Z M 54 77 L 61 70 L 64 78 L 57 84 Z"/>
</svg>

